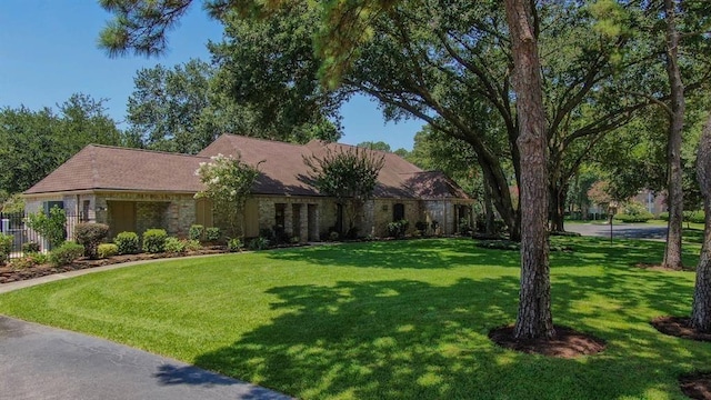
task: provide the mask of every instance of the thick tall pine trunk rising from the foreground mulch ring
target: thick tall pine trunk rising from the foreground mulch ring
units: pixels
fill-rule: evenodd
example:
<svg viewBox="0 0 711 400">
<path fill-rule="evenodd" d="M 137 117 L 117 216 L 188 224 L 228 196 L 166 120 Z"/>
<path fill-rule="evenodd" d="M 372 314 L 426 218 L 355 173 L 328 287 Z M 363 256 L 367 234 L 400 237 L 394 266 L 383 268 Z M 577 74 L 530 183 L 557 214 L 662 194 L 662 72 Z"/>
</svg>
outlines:
<svg viewBox="0 0 711 400">
<path fill-rule="evenodd" d="M 547 136 L 533 2 L 505 0 L 511 32 L 514 88 L 521 154 L 521 290 L 517 339 L 552 338 L 550 268 L 548 264 Z"/>
</svg>

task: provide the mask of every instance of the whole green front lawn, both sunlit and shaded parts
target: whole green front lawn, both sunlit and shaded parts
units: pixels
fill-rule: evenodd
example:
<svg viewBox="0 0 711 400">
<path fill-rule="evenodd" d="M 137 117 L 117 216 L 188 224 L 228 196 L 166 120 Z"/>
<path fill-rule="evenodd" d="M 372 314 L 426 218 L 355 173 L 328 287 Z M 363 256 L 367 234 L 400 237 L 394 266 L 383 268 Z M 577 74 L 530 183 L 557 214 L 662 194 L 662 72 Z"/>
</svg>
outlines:
<svg viewBox="0 0 711 400">
<path fill-rule="evenodd" d="M 518 252 L 471 240 L 351 243 L 172 260 L 0 296 L 0 313 L 88 332 L 299 398 L 683 399 L 711 343 L 658 333 L 692 272 L 642 270 L 663 243 L 553 238 L 555 323 L 608 342 L 563 360 L 504 350 Z M 687 246 L 694 264 L 699 247 Z"/>
</svg>

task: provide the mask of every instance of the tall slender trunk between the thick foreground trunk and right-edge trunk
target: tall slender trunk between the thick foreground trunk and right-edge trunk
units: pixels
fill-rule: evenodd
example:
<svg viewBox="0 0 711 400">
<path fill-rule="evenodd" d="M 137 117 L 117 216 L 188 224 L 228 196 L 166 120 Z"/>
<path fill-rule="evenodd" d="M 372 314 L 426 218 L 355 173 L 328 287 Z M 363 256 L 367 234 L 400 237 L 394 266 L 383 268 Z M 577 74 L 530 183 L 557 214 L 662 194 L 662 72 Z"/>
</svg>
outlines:
<svg viewBox="0 0 711 400">
<path fill-rule="evenodd" d="M 681 188 L 681 136 L 684 128 L 684 86 L 679 69 L 679 31 L 675 24 L 675 1 L 664 0 L 667 20 L 667 74 L 671 87 L 671 116 L 668 143 L 669 223 L 663 267 L 680 270 L 681 229 L 683 223 L 683 192 Z"/>
</svg>

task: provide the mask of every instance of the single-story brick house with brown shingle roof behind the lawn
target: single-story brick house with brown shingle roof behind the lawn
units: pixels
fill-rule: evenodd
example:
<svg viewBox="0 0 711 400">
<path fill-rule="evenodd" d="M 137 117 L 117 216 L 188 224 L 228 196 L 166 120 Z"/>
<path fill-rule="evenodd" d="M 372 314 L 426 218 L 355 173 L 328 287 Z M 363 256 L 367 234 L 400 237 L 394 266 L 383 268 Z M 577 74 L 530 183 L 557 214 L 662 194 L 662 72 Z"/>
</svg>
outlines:
<svg viewBox="0 0 711 400">
<path fill-rule="evenodd" d="M 57 204 L 89 222 L 107 223 L 111 236 L 163 228 L 186 237 L 192 224 L 219 226 L 208 199 L 196 199 L 201 162 L 217 154 L 240 156 L 259 164 L 260 176 L 244 207 L 244 237 L 279 226 L 300 241 L 319 240 L 343 223 L 343 208 L 310 183 L 304 157 L 348 146 L 311 141 L 293 144 L 223 134 L 197 156 L 90 144 L 24 192 L 26 211 Z M 384 156 L 373 198 L 363 207 L 361 236 L 383 237 L 389 222 L 438 222 L 454 233 L 460 219 L 471 223 L 472 200 L 441 172 L 423 171 L 394 153 Z M 71 227 L 69 228 L 71 229 Z M 71 234 L 71 232 L 70 232 Z"/>
</svg>

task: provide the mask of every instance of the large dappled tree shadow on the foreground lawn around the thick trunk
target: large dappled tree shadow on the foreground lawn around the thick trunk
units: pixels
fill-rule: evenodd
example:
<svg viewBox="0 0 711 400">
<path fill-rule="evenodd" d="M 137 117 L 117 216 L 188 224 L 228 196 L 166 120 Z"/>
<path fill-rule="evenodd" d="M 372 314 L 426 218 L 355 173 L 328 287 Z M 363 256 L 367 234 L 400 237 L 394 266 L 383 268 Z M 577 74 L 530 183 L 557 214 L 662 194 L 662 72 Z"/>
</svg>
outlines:
<svg viewBox="0 0 711 400">
<path fill-rule="evenodd" d="M 704 364 L 711 346 L 649 326 L 650 313 L 688 304 L 690 284 L 678 280 L 625 271 L 557 276 L 555 322 L 609 343 L 577 360 L 489 341 L 491 328 L 515 318 L 518 279 L 501 277 L 444 287 L 390 280 L 273 288 L 272 307 L 286 313 L 194 363 L 304 399 L 680 397 L 677 376 Z"/>
</svg>

